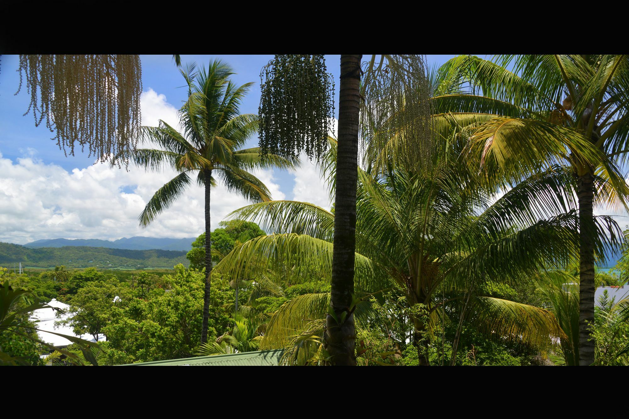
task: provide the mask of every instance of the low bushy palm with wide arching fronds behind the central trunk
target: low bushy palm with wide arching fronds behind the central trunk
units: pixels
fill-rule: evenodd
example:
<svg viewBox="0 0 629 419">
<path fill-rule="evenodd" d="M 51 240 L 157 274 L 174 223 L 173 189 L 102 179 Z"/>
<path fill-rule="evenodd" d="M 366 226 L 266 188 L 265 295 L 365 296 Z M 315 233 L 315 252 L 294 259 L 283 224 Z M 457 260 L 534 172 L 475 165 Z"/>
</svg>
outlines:
<svg viewBox="0 0 629 419">
<path fill-rule="evenodd" d="M 499 182 L 479 175 L 460 157 L 465 141 L 459 124 L 447 115 L 434 118 L 440 135 L 454 134 L 452 141 L 435 142 L 431 165 L 416 171 L 396 162 L 398 138 L 393 138 L 384 150 L 371 154 L 372 171 L 357 170 L 357 291 L 349 307 L 359 321 L 365 320 L 369 308 L 362 302 L 367 296 L 386 288 L 403 293 L 413 309 L 412 341 L 422 365 L 428 364 L 430 331 L 443 308 L 436 298 L 439 290 L 469 293 L 481 281 L 538 275 L 546 264 L 576 258 L 578 249 L 576 202 L 562 190 L 566 184 L 576 188 L 567 171 L 555 167 L 533 175 L 492 203 Z M 331 143 L 328 163 L 333 173 L 336 144 Z M 216 269 L 235 277 L 255 277 L 269 264 L 299 268 L 316 261 L 321 273 L 330 276 L 335 214 L 291 201 L 248 205 L 235 214 L 259 220 L 276 234 L 235 248 Z M 599 252 L 609 244 L 601 232 L 603 224 L 597 224 Z M 263 255 L 268 263 L 259 263 Z M 318 319 L 329 301 L 327 294 L 311 294 L 285 303 L 267 324 L 262 345 L 285 347 L 298 335 L 305 349 L 301 361 L 311 359 L 320 347 Z M 469 298 L 468 309 L 470 320 L 489 334 L 524 342 L 562 337 L 552 313 L 542 308 L 481 295 Z"/>
</svg>

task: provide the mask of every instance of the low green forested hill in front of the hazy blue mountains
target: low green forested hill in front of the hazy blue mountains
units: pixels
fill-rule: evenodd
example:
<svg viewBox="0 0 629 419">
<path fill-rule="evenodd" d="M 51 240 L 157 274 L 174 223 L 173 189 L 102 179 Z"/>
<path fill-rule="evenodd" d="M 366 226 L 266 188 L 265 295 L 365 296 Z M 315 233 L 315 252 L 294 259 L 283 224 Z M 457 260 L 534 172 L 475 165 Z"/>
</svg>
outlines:
<svg viewBox="0 0 629 419">
<path fill-rule="evenodd" d="M 128 250 L 65 246 L 63 248 L 29 249 L 19 244 L 0 242 L 0 266 L 13 263 L 22 266 L 51 268 L 65 265 L 67 268 L 172 268 L 175 264 L 189 265 L 185 251 Z"/>
</svg>

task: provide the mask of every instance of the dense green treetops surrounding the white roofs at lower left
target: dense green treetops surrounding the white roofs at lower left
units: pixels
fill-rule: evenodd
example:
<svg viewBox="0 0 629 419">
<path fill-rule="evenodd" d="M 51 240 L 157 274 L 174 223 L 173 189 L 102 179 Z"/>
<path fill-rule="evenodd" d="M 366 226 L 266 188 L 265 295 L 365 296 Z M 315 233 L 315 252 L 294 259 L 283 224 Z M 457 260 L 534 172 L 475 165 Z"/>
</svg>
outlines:
<svg viewBox="0 0 629 419">
<path fill-rule="evenodd" d="M 91 334 L 95 339 L 106 335 L 106 342 L 99 344 L 95 355 L 99 364 L 190 357 L 197 351 L 203 311 L 203 272 L 189 271 L 179 264 L 172 274 L 136 273 L 128 281 L 94 268 L 70 272 L 60 280 L 54 277 L 55 271 L 34 277 L 14 275 L 7 269 L 0 272 L 0 281 L 8 280 L 18 289 L 33 290 L 45 300 L 53 297 L 68 303 L 71 317 L 65 324 L 73 327 L 75 334 Z M 231 330 L 235 292 L 219 276 L 214 275 L 213 284 L 209 337 L 216 339 Z M 23 315 L 21 322 L 32 325 L 28 323 L 28 315 Z M 32 330 L 30 333 L 35 336 Z M 11 356 L 21 356 L 30 362 L 40 362 L 39 354 L 49 351 L 29 339 L 8 334 L 0 335 L 0 344 Z M 69 347 L 69 352 L 82 356 L 75 345 Z"/>
</svg>

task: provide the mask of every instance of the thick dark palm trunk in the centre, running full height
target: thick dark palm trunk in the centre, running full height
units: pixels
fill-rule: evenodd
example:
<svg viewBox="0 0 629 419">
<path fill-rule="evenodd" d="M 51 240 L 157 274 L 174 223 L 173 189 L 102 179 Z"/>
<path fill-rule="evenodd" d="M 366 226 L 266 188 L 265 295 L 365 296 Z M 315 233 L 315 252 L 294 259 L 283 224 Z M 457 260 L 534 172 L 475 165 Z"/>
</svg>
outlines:
<svg viewBox="0 0 629 419">
<path fill-rule="evenodd" d="M 356 248 L 361 58 L 362 55 L 341 55 L 337 185 L 330 299 L 330 307 L 334 310 L 335 316 L 328 314 L 323 338 L 323 346 L 330 356 L 329 361 L 326 362 L 328 365 L 356 365 L 356 335 L 350 306 L 353 298 Z"/>
</svg>

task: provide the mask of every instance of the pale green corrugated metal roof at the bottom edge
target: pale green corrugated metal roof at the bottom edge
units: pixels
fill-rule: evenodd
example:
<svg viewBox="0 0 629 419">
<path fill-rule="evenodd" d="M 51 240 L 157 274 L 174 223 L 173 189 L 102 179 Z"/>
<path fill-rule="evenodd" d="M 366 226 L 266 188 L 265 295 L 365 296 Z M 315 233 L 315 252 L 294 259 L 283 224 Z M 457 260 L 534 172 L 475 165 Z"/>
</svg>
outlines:
<svg viewBox="0 0 629 419">
<path fill-rule="evenodd" d="M 284 349 L 272 351 L 240 352 L 238 354 L 199 356 L 196 358 L 168 359 L 166 361 L 138 362 L 126 366 L 277 366 Z"/>
</svg>

